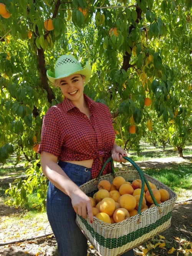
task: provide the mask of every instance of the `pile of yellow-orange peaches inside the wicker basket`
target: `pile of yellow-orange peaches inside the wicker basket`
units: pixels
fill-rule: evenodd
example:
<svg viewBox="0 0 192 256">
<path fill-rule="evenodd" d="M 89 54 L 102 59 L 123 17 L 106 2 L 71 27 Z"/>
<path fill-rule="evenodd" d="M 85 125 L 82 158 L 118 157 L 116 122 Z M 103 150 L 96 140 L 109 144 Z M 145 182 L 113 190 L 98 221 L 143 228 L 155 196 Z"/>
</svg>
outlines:
<svg viewBox="0 0 192 256">
<path fill-rule="evenodd" d="M 170 198 L 167 190 L 164 188 L 157 189 L 156 185 L 150 181 L 148 183 L 158 204 Z M 116 176 L 112 184 L 108 180 L 99 181 L 98 191 L 93 197 L 89 197 L 93 215 L 103 222 L 113 224 L 138 214 L 141 187 L 141 180 L 137 179 L 130 183 L 122 176 Z M 145 184 L 141 212 L 154 206 L 155 204 Z"/>
</svg>

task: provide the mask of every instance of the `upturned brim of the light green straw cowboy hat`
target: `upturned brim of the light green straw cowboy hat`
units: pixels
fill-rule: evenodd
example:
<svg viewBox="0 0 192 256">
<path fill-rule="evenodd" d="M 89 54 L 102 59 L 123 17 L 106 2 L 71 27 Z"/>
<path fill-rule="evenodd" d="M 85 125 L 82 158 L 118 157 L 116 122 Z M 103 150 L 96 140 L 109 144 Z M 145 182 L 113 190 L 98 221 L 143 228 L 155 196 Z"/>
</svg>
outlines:
<svg viewBox="0 0 192 256">
<path fill-rule="evenodd" d="M 86 62 L 86 66 L 84 69 L 77 70 L 73 73 L 63 73 L 61 76 L 55 77 L 55 74 L 51 70 L 46 71 L 46 75 L 48 79 L 51 81 L 51 83 L 55 83 L 55 80 L 65 78 L 74 74 L 80 74 L 85 76 L 84 85 L 86 85 L 91 77 L 91 66 L 89 65 L 89 62 Z"/>
</svg>

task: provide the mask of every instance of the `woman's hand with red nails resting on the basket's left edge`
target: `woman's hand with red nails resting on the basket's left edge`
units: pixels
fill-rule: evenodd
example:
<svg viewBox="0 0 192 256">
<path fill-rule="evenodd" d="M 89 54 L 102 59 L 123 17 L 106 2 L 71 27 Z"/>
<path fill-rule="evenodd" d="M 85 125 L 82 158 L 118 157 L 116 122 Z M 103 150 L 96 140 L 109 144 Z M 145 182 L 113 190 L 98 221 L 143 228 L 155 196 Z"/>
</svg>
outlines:
<svg viewBox="0 0 192 256">
<path fill-rule="evenodd" d="M 80 189 L 79 191 L 73 191 L 70 197 L 74 211 L 84 219 L 87 217 L 88 213 L 89 220 L 93 223 L 93 210 L 89 197 Z"/>
</svg>

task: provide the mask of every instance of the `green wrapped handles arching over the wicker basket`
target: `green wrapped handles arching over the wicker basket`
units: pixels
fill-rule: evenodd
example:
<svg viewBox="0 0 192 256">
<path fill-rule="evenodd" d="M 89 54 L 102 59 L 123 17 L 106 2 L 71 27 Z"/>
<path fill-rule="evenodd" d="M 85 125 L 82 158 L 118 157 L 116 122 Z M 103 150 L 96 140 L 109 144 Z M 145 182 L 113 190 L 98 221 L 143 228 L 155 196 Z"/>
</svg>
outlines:
<svg viewBox="0 0 192 256">
<path fill-rule="evenodd" d="M 149 193 L 153 199 L 153 202 L 154 204 L 159 208 L 159 213 L 161 213 L 161 208 L 159 206 L 159 204 L 157 203 L 155 197 L 154 197 L 154 194 L 152 193 L 152 190 L 151 190 L 151 187 L 147 181 L 147 178 L 146 176 L 144 175 L 143 171 L 139 168 L 139 166 L 131 159 L 129 158 L 128 156 L 123 156 L 124 159 L 126 159 L 127 161 L 129 161 L 129 163 L 132 164 L 132 166 L 134 166 L 134 168 L 138 171 L 139 173 L 139 176 L 141 177 L 141 181 L 142 181 L 142 185 L 141 185 L 141 196 L 140 196 L 140 199 L 139 199 L 139 207 L 138 207 L 138 213 L 139 213 L 139 221 L 138 223 L 140 222 L 140 218 L 141 218 L 141 206 L 142 206 L 142 198 L 144 196 L 144 187 L 145 187 L 145 183 L 147 185 L 147 188 L 149 190 Z M 104 168 L 106 167 L 106 165 L 111 161 L 111 170 L 112 170 L 112 173 L 111 175 L 113 175 L 115 177 L 115 171 L 114 171 L 114 165 L 113 165 L 113 158 L 110 156 L 108 158 L 108 160 L 106 160 L 106 162 L 103 164 L 102 168 L 101 168 L 101 171 L 99 172 L 97 178 L 96 178 L 96 181 L 95 181 L 95 184 L 98 182 L 99 178 L 101 177 L 102 173 L 103 173 L 103 170 Z"/>
</svg>

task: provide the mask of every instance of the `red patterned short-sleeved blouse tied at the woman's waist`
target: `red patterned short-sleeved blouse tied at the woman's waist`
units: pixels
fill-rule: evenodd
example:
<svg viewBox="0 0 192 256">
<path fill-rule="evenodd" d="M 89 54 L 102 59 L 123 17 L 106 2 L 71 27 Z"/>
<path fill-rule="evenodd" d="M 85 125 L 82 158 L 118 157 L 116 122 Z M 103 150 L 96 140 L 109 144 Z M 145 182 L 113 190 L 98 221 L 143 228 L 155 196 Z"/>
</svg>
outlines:
<svg viewBox="0 0 192 256">
<path fill-rule="evenodd" d="M 96 178 L 102 164 L 111 156 L 115 141 L 111 114 L 103 103 L 96 103 L 84 95 L 90 109 L 90 119 L 70 100 L 51 107 L 43 118 L 39 153 L 45 151 L 61 161 L 83 161 L 93 159 L 92 178 Z M 103 175 L 111 172 L 108 163 Z"/>
</svg>

